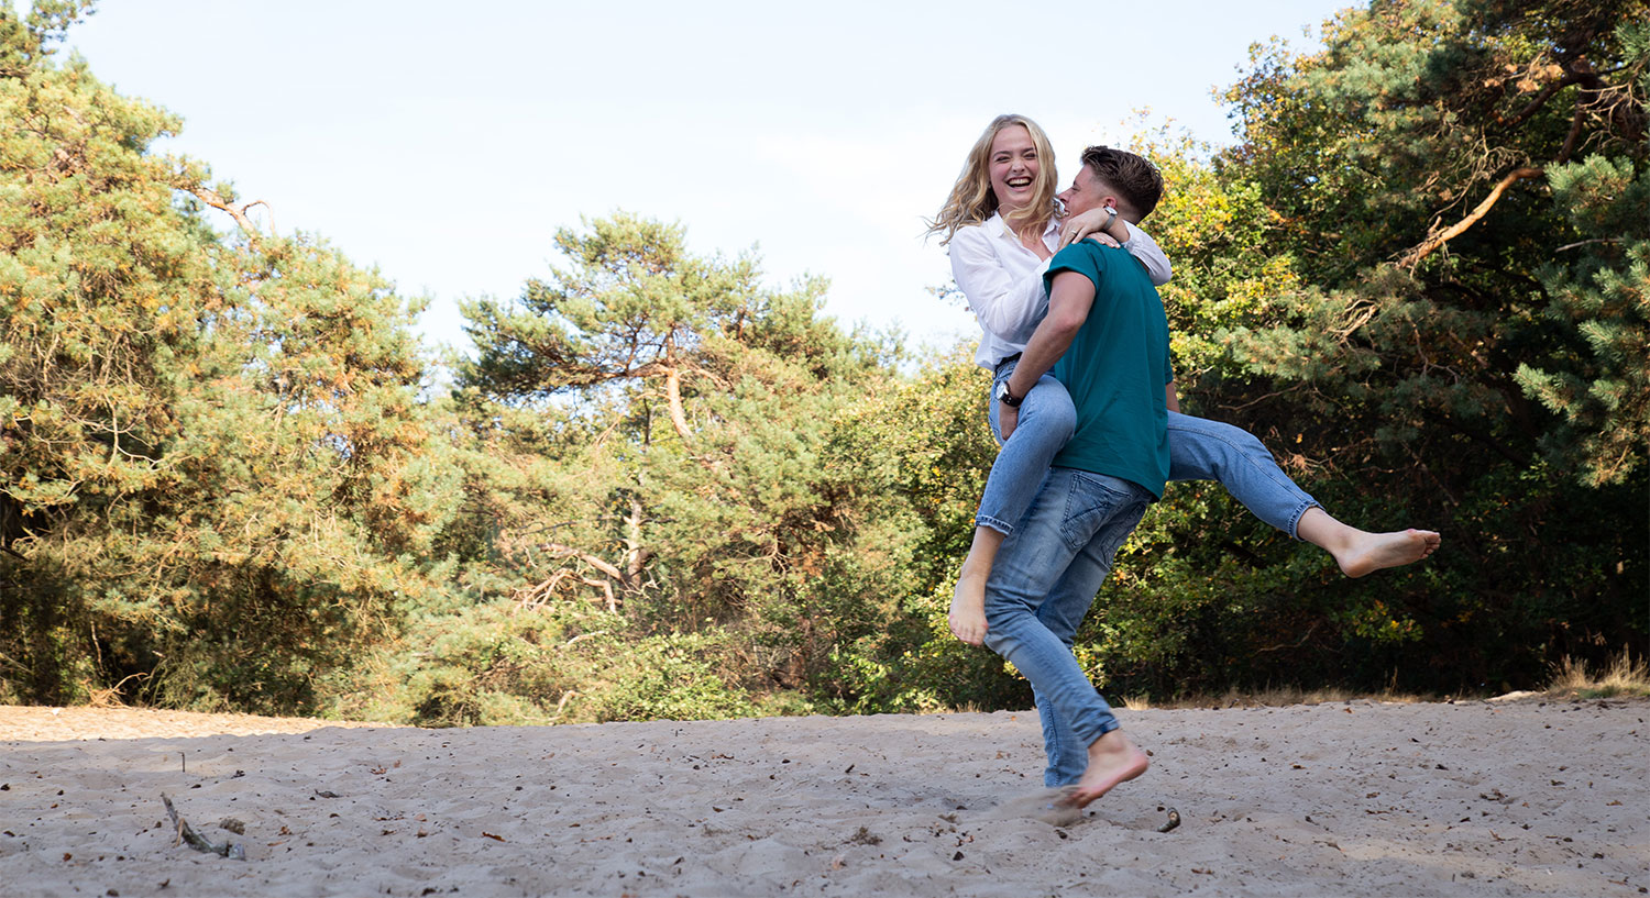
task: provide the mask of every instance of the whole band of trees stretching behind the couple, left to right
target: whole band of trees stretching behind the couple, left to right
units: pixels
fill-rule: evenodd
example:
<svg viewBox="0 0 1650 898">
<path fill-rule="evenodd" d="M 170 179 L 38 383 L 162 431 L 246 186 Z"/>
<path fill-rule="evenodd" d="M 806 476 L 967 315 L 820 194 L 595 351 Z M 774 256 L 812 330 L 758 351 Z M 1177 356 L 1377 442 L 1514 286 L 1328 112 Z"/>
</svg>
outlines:
<svg viewBox="0 0 1650 898">
<path fill-rule="evenodd" d="M 412 303 L 150 150 L 168 114 L 0 10 L 0 700 L 424 723 L 1021 707 L 942 615 L 995 451 L 967 353 L 615 214 Z M 1374 3 L 1257 48 L 1239 142 L 1145 137 L 1186 404 L 1341 519 L 1444 532 L 1348 582 L 1218 486 L 1119 555 L 1122 694 L 1531 685 L 1642 648 L 1650 8 Z M 1069 173 L 1069 171 L 1068 171 Z"/>
</svg>

